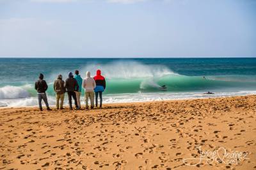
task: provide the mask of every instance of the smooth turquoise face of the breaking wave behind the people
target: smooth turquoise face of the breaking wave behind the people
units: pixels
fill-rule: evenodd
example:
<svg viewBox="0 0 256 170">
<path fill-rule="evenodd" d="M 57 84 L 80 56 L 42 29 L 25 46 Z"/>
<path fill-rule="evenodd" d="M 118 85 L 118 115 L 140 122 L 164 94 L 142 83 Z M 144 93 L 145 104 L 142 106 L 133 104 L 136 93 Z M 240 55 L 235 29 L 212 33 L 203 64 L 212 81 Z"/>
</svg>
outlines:
<svg viewBox="0 0 256 170">
<path fill-rule="evenodd" d="M 241 80 L 241 75 L 235 79 L 232 76 L 220 77 L 202 77 L 202 76 L 186 76 L 186 75 L 165 75 L 163 77 L 150 78 L 131 78 L 131 79 L 106 79 L 106 91 L 104 94 L 123 94 L 123 93 L 152 93 L 152 92 L 186 92 L 186 91 L 212 91 L 221 89 L 247 89 L 253 90 L 256 86 L 256 81 L 252 81 L 255 77 L 249 78 L 246 76 L 244 81 Z M 251 80 L 251 81 L 250 81 Z M 166 88 L 162 88 L 165 86 Z M 36 91 L 32 85 L 26 90 L 31 96 L 36 96 Z M 55 95 L 52 83 L 49 83 L 47 90 L 49 95 Z M 82 90 L 84 93 L 84 89 Z"/>
</svg>

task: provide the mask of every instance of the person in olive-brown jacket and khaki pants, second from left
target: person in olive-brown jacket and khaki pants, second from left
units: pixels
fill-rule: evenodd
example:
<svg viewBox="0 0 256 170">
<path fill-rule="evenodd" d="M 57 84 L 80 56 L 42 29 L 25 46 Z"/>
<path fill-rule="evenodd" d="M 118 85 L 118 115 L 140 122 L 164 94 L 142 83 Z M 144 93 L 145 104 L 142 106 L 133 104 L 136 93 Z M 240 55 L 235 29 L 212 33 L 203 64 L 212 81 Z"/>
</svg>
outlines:
<svg viewBox="0 0 256 170">
<path fill-rule="evenodd" d="M 63 109 L 65 82 L 62 80 L 62 75 L 58 75 L 58 78 L 54 81 L 53 89 L 56 93 L 56 107 L 57 109 Z"/>
</svg>

